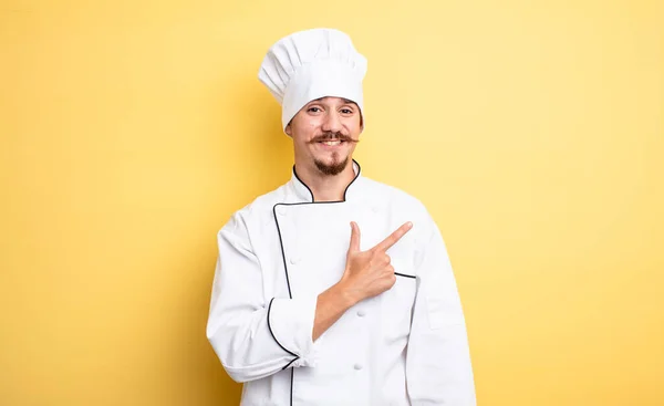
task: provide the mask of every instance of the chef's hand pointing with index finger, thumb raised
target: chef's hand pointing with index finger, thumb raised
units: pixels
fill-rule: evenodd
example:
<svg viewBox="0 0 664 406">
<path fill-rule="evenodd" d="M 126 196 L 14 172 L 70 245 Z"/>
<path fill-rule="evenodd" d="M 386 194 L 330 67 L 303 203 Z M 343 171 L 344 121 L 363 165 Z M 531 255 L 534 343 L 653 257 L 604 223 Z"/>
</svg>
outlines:
<svg viewBox="0 0 664 406">
<path fill-rule="evenodd" d="M 360 227 L 351 222 L 351 243 L 346 256 L 346 267 L 340 283 L 354 301 L 373 298 L 390 290 L 396 282 L 390 256 L 385 252 L 413 228 L 406 222 L 386 239 L 367 251 L 360 251 Z"/>
</svg>

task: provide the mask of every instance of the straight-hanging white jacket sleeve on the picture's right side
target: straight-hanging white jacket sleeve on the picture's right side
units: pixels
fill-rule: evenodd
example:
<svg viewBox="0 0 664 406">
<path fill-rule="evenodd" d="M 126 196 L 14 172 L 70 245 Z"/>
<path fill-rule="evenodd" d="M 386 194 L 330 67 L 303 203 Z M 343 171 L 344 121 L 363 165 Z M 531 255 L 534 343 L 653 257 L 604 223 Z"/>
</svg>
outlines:
<svg viewBox="0 0 664 406">
<path fill-rule="evenodd" d="M 413 406 L 475 406 L 475 383 L 461 302 L 434 220 L 423 225 L 416 258 L 417 295 L 406 355 Z"/>
</svg>

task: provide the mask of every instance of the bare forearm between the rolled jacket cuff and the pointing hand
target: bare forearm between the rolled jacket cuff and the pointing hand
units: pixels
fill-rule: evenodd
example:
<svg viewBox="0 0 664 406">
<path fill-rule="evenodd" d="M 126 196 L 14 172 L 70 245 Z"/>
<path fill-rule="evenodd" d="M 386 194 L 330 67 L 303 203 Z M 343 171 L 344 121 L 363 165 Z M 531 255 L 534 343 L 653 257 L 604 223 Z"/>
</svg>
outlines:
<svg viewBox="0 0 664 406">
<path fill-rule="evenodd" d="M 319 294 L 315 305 L 312 340 L 317 341 L 332 324 L 359 302 L 355 294 L 345 288 L 344 282 L 336 283 Z"/>
</svg>

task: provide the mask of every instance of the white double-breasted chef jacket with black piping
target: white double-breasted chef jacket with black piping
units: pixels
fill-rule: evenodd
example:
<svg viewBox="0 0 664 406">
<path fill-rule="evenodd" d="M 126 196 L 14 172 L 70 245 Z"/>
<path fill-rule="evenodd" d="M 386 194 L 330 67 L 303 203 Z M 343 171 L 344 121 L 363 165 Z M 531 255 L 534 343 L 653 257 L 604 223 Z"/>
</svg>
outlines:
<svg viewBox="0 0 664 406">
<path fill-rule="evenodd" d="M 436 223 L 414 197 L 361 175 L 344 199 L 315 202 L 297 176 L 218 233 L 207 337 L 245 383 L 241 406 L 473 406 L 461 303 Z M 350 222 L 361 249 L 405 221 L 387 250 L 388 291 L 349 309 L 312 342 L 317 296 L 344 271 Z"/>
</svg>

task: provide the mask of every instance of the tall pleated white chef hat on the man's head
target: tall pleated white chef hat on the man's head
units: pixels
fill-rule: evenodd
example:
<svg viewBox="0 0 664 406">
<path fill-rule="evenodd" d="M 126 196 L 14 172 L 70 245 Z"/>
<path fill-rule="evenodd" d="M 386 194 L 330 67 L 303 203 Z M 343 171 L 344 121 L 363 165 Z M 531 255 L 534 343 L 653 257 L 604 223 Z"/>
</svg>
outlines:
<svg viewBox="0 0 664 406">
<path fill-rule="evenodd" d="M 281 104 L 283 129 L 307 103 L 334 96 L 355 102 L 363 112 L 362 80 L 366 59 L 351 38 L 333 29 L 292 33 L 277 41 L 260 65 L 258 79 Z"/>
</svg>

